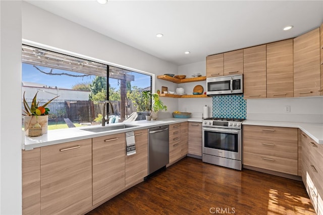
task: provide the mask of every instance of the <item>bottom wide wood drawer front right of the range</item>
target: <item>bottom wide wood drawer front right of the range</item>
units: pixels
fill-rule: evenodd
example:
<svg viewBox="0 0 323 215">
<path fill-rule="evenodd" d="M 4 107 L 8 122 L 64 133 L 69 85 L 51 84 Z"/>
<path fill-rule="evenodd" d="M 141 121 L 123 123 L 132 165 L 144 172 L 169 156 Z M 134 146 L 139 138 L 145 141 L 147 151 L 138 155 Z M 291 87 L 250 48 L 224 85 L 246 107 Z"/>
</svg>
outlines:
<svg viewBox="0 0 323 215">
<path fill-rule="evenodd" d="M 252 152 L 244 152 L 243 155 L 244 165 L 297 175 L 297 159 L 256 154 Z"/>
</svg>

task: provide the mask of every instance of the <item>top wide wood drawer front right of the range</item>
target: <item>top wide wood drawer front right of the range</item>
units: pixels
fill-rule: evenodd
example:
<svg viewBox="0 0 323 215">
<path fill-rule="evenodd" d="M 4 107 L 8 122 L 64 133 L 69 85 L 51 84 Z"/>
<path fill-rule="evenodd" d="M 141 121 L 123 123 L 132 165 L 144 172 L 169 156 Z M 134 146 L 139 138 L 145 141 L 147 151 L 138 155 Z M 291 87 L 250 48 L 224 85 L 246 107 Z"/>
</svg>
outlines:
<svg viewBox="0 0 323 215">
<path fill-rule="evenodd" d="M 297 128 L 273 126 L 243 126 L 243 136 L 249 139 L 297 143 Z"/>
</svg>

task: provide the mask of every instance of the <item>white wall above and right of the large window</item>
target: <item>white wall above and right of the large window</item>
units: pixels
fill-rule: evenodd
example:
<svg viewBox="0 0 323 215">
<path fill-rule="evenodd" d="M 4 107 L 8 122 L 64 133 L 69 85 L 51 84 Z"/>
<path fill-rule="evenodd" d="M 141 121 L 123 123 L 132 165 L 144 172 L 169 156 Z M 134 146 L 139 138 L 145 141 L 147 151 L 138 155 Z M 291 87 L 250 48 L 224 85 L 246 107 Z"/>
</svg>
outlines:
<svg viewBox="0 0 323 215">
<path fill-rule="evenodd" d="M 106 37 L 88 28 L 51 14 L 26 2 L 22 5 L 22 38 L 40 43 L 47 49 L 61 49 L 77 57 L 97 60 L 113 66 L 155 75 L 177 74 L 174 64 L 155 58 L 143 51 Z M 31 43 L 31 44 L 32 44 Z M 49 46 L 49 47 L 46 47 Z M 91 58 L 90 58 L 91 57 Z M 163 80 L 154 80 L 155 89 L 161 89 Z M 153 86 L 154 87 L 154 86 Z M 169 110 L 177 103 L 162 98 Z"/>
</svg>

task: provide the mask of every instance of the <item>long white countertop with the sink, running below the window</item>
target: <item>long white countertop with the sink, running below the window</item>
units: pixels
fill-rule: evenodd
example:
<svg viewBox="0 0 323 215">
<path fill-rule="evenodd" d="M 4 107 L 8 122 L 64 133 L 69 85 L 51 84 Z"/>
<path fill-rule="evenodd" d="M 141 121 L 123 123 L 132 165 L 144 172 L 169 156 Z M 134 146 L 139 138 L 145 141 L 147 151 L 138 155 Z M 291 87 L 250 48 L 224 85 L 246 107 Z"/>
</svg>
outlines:
<svg viewBox="0 0 323 215">
<path fill-rule="evenodd" d="M 104 131 L 104 132 L 91 132 L 82 130 L 84 128 L 89 127 L 77 127 L 77 128 L 68 128 L 68 129 L 57 129 L 57 130 L 49 130 L 47 134 L 43 134 L 39 137 L 28 137 L 25 136 L 24 132 L 22 132 L 22 148 L 25 150 L 47 146 L 47 145 L 54 145 L 59 143 L 65 143 L 70 141 L 82 140 L 87 138 L 93 137 L 100 137 L 110 134 L 117 134 L 123 133 L 128 131 L 135 131 L 140 129 L 147 129 L 156 126 L 162 125 L 170 125 L 174 123 L 182 123 L 182 122 L 202 122 L 201 118 L 188 118 L 188 119 L 179 119 L 179 118 L 168 118 L 168 119 L 161 119 L 161 120 L 152 120 L 152 121 L 133 121 L 127 123 L 114 123 L 106 126 L 116 126 L 116 125 L 133 125 L 137 127 L 132 128 L 125 128 L 113 131 Z M 101 127 L 98 126 L 91 126 L 91 128 Z"/>
</svg>

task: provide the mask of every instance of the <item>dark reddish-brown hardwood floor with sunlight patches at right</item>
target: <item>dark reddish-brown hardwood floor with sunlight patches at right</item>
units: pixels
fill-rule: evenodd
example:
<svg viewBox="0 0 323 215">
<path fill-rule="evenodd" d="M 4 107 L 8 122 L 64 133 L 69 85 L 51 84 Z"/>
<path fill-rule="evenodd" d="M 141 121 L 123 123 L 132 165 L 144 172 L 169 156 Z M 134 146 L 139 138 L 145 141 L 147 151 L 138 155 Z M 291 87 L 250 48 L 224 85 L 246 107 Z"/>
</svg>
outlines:
<svg viewBox="0 0 323 215">
<path fill-rule="evenodd" d="M 302 182 L 185 157 L 96 214 L 315 214 Z"/>
</svg>

